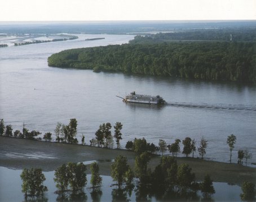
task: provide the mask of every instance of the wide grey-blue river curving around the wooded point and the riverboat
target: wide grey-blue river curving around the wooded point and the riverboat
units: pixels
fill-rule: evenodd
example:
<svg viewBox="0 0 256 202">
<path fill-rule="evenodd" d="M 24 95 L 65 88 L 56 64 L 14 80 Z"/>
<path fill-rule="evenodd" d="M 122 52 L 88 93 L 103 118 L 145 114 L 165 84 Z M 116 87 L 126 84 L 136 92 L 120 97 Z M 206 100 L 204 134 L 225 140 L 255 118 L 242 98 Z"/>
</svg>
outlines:
<svg viewBox="0 0 256 202">
<path fill-rule="evenodd" d="M 208 140 L 206 158 L 229 160 L 227 136 L 235 134 L 237 151 L 248 149 L 256 163 L 256 86 L 178 78 L 94 73 L 47 66 L 47 57 L 69 48 L 127 43 L 134 35 L 78 35 L 64 42 L 0 48 L 0 118 L 20 131 L 25 127 L 54 133 L 57 122 L 78 121 L 78 140 L 95 137 L 101 123 L 123 124 L 121 146 L 145 137 L 148 142 L 176 138 Z M 98 41 L 86 38 L 105 37 Z M 169 105 L 125 104 L 118 96 L 131 91 L 161 95 Z M 112 133 L 114 132 L 112 128 Z M 181 148 L 183 145 L 181 144 Z M 182 156 L 180 154 L 180 156 Z M 198 156 L 196 152 L 196 156 Z"/>
</svg>

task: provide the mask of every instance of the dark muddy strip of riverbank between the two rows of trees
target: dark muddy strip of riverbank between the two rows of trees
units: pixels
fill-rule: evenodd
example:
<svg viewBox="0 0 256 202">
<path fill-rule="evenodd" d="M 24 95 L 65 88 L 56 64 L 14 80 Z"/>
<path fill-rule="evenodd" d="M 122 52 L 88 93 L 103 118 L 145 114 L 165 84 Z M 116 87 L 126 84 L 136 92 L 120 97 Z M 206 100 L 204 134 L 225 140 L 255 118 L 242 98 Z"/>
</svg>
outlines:
<svg viewBox="0 0 256 202">
<path fill-rule="evenodd" d="M 109 176 L 111 161 L 117 155 L 126 156 L 129 164 L 134 167 L 135 154 L 128 150 L 103 149 L 0 136 L 0 166 L 12 169 L 37 167 L 42 168 L 43 171 L 51 171 L 69 161 L 83 161 L 89 164 L 90 161 L 97 160 L 100 165 L 100 174 Z M 155 169 L 160 159 L 161 156 L 151 159 L 149 168 Z M 196 158 L 176 159 L 178 164 L 188 163 L 192 172 L 195 172 L 198 181 L 202 181 L 204 176 L 209 174 L 214 182 L 237 185 L 241 185 L 244 181 L 256 182 L 256 168 Z M 90 173 L 89 167 L 87 167 L 87 173 Z"/>
</svg>

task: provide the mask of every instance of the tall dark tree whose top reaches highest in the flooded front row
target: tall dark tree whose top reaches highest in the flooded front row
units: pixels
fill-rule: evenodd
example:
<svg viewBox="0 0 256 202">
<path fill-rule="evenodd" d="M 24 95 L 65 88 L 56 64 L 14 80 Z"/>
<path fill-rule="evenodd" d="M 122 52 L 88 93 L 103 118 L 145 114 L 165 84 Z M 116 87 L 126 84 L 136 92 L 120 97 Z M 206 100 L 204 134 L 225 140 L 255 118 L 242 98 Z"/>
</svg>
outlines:
<svg viewBox="0 0 256 202">
<path fill-rule="evenodd" d="M 144 182 L 144 179 L 148 174 L 149 160 L 150 158 L 147 152 L 143 152 L 135 158 L 135 172 L 140 179 L 140 183 Z"/>
</svg>

